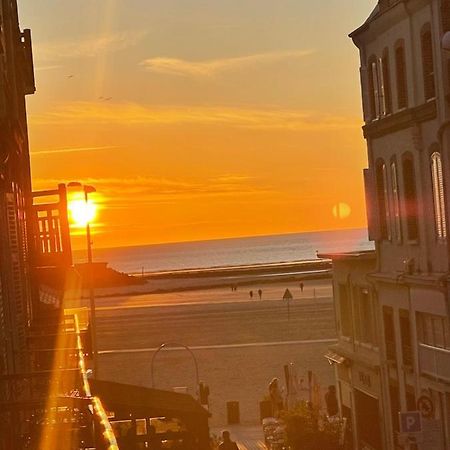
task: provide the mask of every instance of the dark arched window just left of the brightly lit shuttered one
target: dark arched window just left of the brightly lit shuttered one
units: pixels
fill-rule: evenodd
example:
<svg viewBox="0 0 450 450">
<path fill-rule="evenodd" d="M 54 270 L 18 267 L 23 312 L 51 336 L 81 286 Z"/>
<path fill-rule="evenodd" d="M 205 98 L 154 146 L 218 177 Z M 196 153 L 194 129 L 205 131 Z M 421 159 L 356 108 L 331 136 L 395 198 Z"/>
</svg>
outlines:
<svg viewBox="0 0 450 450">
<path fill-rule="evenodd" d="M 414 170 L 414 160 L 411 153 L 403 156 L 403 190 L 406 211 L 406 229 L 408 239 L 415 241 L 419 238 L 418 214 L 419 208 L 417 203 L 416 175 Z"/>
</svg>

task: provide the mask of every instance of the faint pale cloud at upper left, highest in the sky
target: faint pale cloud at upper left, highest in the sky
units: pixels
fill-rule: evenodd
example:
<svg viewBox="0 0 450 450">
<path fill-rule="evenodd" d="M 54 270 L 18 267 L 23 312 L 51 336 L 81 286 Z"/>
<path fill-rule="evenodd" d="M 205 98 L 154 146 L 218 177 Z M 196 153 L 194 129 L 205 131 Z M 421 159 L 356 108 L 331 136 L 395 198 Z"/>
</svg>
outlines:
<svg viewBox="0 0 450 450">
<path fill-rule="evenodd" d="M 91 36 L 77 41 L 58 41 L 37 44 L 35 53 L 39 61 L 58 61 L 72 58 L 91 58 L 102 53 L 111 53 L 139 43 L 146 31 L 121 31 L 102 36 Z"/>
</svg>

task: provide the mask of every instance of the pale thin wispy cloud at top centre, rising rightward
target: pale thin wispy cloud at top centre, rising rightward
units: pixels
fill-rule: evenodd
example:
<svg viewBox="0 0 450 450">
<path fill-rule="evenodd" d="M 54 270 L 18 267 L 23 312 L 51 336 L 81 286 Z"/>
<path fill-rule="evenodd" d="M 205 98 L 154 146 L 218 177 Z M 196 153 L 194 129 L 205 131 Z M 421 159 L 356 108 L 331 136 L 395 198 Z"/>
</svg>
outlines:
<svg viewBox="0 0 450 450">
<path fill-rule="evenodd" d="M 314 50 L 289 50 L 235 58 L 210 59 L 206 61 L 188 61 L 176 58 L 149 58 L 141 62 L 150 72 L 177 76 L 210 77 L 221 72 L 242 69 L 258 64 L 275 64 L 283 61 L 304 58 Z"/>
</svg>

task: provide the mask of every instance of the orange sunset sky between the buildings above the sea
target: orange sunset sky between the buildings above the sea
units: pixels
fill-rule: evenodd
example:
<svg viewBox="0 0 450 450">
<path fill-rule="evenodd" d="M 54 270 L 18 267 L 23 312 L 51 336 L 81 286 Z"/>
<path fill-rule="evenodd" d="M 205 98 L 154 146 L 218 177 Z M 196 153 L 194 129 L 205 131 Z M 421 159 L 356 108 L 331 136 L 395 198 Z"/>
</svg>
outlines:
<svg viewBox="0 0 450 450">
<path fill-rule="evenodd" d="M 34 189 L 94 185 L 97 247 L 364 227 L 375 3 L 22 0 Z"/>
</svg>

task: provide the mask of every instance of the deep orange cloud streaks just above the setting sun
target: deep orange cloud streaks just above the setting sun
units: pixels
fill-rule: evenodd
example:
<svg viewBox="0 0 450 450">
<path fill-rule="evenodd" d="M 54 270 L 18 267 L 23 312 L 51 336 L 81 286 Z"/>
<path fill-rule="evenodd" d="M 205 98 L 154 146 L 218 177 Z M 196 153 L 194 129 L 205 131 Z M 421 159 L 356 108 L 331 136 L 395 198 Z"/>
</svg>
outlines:
<svg viewBox="0 0 450 450">
<path fill-rule="evenodd" d="M 272 192 L 254 178 L 243 175 L 223 175 L 202 180 L 181 180 L 153 177 L 134 178 L 87 178 L 83 184 L 96 187 L 108 208 L 130 208 L 132 204 L 154 205 L 172 203 L 186 198 L 254 196 Z M 38 178 L 33 180 L 34 189 L 48 189 L 67 180 Z"/>
</svg>

